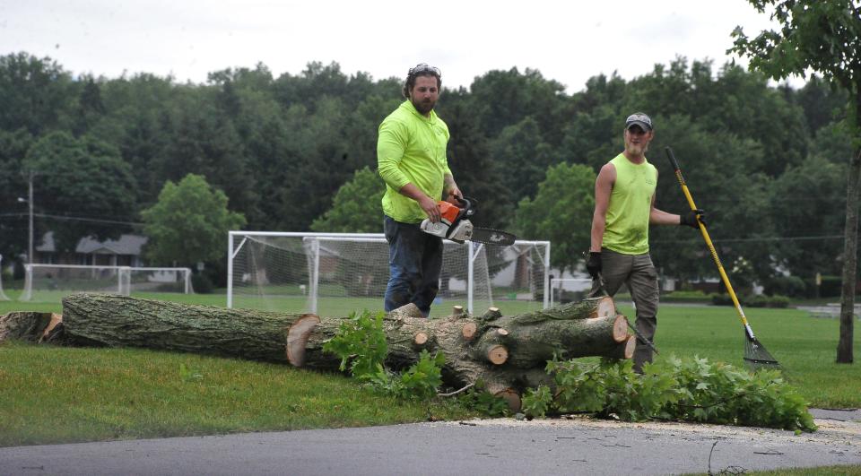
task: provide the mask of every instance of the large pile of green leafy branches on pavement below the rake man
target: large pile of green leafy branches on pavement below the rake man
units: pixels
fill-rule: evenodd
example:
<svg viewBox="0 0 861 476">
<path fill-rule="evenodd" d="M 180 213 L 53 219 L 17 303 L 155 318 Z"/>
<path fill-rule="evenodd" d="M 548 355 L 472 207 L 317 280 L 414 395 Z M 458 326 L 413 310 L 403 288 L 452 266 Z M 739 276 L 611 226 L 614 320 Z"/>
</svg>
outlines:
<svg viewBox="0 0 861 476">
<path fill-rule="evenodd" d="M 645 375 L 631 361 L 552 360 L 555 390 L 526 391 L 523 411 L 544 417 L 578 411 L 620 420 L 690 420 L 704 423 L 814 431 L 804 399 L 777 370 L 750 373 L 707 359 L 672 357 L 649 365 Z"/>
</svg>

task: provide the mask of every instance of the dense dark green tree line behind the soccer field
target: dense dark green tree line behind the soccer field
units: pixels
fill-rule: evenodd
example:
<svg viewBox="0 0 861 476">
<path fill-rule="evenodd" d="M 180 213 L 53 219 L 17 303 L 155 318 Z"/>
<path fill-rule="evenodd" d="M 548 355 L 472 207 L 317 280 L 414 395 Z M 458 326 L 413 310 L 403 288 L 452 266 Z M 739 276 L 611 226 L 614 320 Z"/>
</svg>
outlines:
<svg viewBox="0 0 861 476">
<path fill-rule="evenodd" d="M 188 174 L 221 191 L 246 229 L 380 231 L 377 127 L 403 100 L 402 82 L 311 63 L 296 75 L 259 64 L 179 83 L 74 76 L 48 57 L 2 56 L 0 253 L 26 252 L 18 197 L 30 172 L 36 236 L 54 230 L 61 250 L 86 235 L 141 232 L 152 221 L 142 212 Z M 588 247 L 596 171 L 622 151 L 624 117 L 647 112 L 657 206 L 687 207 L 664 157 L 670 145 L 734 282 L 802 293 L 842 264 L 847 102 L 816 77 L 772 87 L 736 65 L 679 57 L 631 81 L 596 75 L 574 93 L 536 70 L 494 70 L 445 89 L 437 110 L 458 185 L 479 202 L 474 221 L 550 239 L 552 262 L 569 269 Z M 665 275 L 717 274 L 698 234 L 652 233 Z"/>
</svg>

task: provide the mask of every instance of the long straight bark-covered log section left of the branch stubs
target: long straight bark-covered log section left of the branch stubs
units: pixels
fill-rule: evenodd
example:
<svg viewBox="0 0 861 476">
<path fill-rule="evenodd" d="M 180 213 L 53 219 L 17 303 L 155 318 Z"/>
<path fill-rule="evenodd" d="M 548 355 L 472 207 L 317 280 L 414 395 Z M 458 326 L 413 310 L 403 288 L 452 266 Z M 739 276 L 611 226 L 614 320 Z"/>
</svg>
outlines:
<svg viewBox="0 0 861 476">
<path fill-rule="evenodd" d="M 170 351 L 290 362 L 305 366 L 307 354 L 294 356 L 308 331 L 320 323 L 313 314 L 283 314 L 135 299 L 109 294 L 72 294 L 63 299 L 63 340 L 74 345 L 147 347 Z M 291 333 L 291 329 L 294 329 Z M 300 336 L 296 334 L 300 333 Z M 331 338 L 318 335 L 317 341 Z M 324 355 L 322 342 L 311 368 L 337 368 L 339 359 Z"/>
</svg>

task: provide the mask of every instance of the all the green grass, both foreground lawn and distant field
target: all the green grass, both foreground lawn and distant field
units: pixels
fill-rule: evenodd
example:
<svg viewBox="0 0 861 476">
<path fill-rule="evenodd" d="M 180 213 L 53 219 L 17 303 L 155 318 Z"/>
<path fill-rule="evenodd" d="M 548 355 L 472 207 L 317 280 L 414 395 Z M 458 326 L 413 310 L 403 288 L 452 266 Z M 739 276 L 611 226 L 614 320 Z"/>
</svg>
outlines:
<svg viewBox="0 0 861 476">
<path fill-rule="evenodd" d="M 226 303 L 223 294 L 139 297 L 217 307 Z M 509 306 L 513 304 L 499 306 L 505 314 L 517 314 Z M 361 310 L 343 302 L 336 306 L 332 314 L 319 314 L 346 316 Z M 16 310 L 61 312 L 57 303 L 0 302 L 0 315 Z M 623 303 L 620 310 L 632 315 Z M 814 318 L 796 309 L 752 308 L 747 314 L 760 341 L 812 406 L 861 407 L 857 364 L 834 363 L 837 319 Z M 698 355 L 742 365 L 743 328 L 732 307 L 665 304 L 658 319 L 657 359 Z M 861 350 L 861 333 L 855 336 L 855 349 Z M 396 402 L 343 376 L 272 364 L 164 351 L 0 344 L 0 446 L 465 416 L 468 412 L 448 401 Z"/>
</svg>

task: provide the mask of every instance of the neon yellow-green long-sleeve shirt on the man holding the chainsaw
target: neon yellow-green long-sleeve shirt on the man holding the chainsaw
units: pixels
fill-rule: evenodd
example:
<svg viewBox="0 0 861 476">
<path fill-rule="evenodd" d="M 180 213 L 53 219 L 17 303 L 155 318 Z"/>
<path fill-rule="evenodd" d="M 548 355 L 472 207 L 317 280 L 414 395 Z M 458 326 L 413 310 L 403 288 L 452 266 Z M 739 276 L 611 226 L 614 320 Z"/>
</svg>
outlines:
<svg viewBox="0 0 861 476">
<path fill-rule="evenodd" d="M 447 143 L 448 125 L 432 110 L 431 117 L 422 116 L 409 100 L 383 120 L 377 139 L 377 168 L 386 182 L 384 213 L 404 223 L 427 218 L 418 202 L 398 190 L 412 183 L 434 200 L 441 200 L 443 177 L 451 175 Z"/>
</svg>

